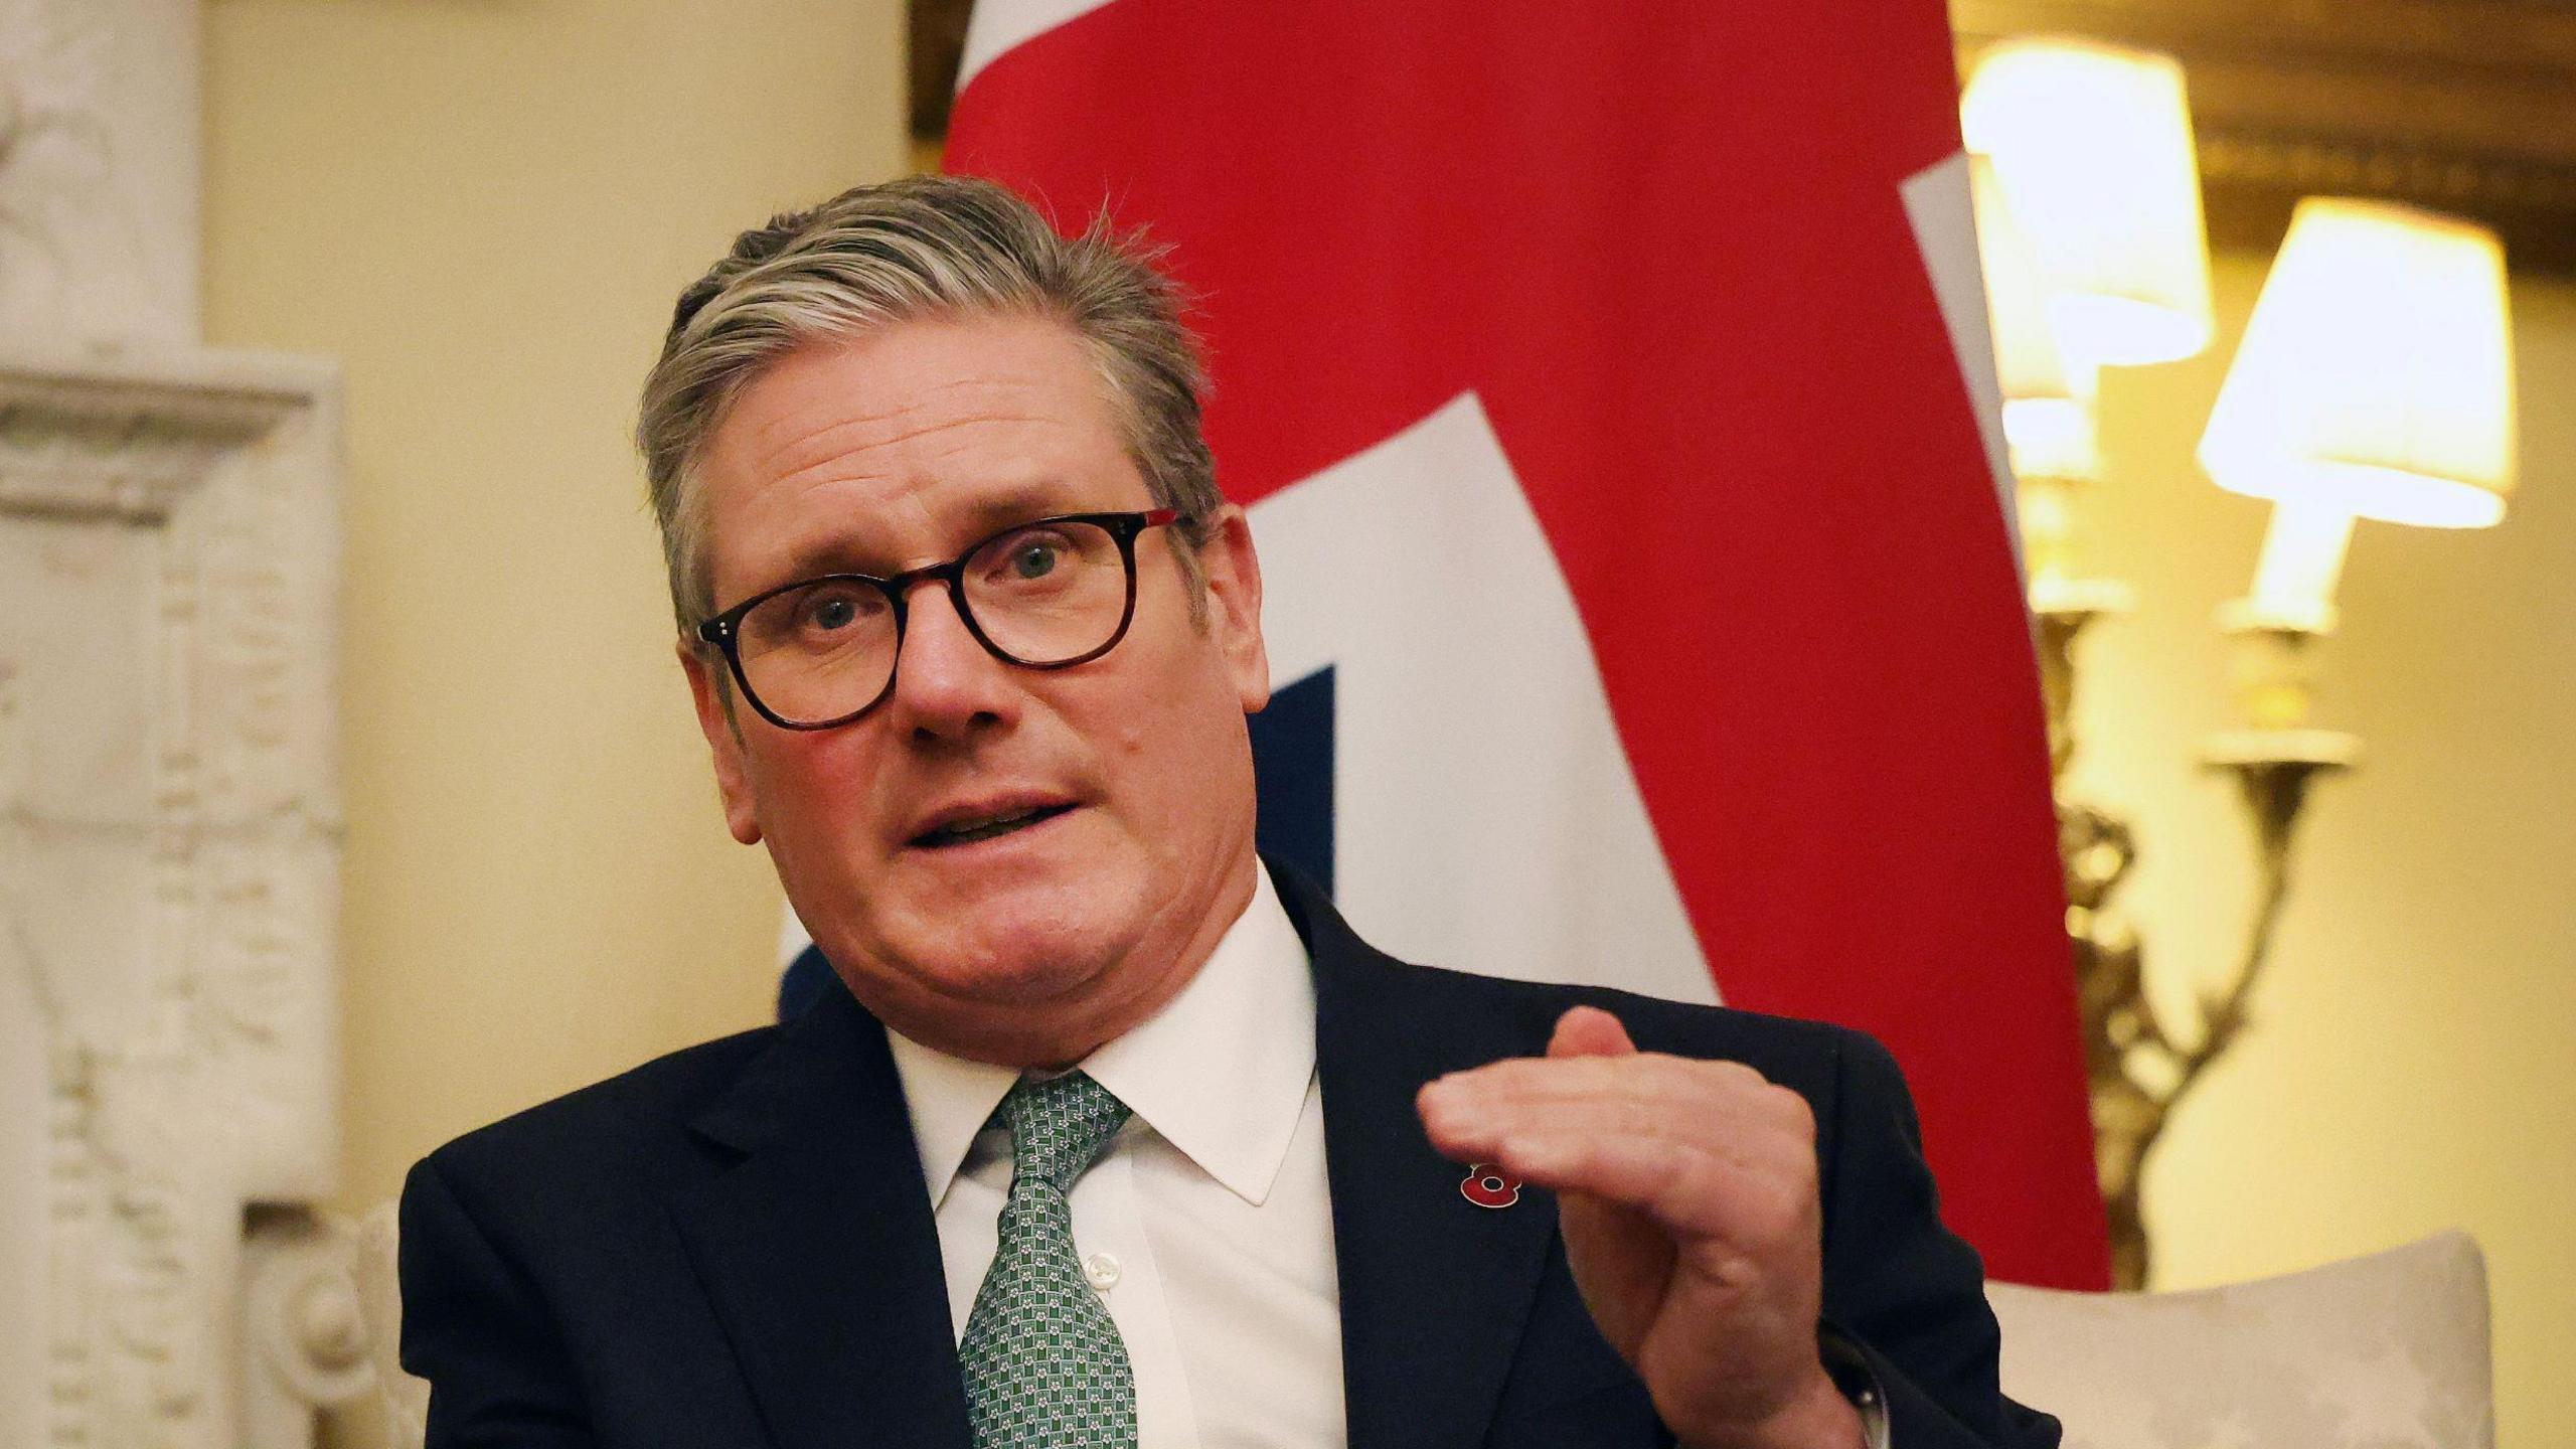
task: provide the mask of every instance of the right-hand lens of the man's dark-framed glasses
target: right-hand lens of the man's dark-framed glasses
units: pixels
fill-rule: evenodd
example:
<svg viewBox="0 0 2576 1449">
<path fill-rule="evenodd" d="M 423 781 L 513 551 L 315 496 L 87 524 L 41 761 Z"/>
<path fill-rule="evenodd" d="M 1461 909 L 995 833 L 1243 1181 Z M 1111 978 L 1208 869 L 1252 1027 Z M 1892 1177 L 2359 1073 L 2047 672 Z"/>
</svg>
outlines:
<svg viewBox="0 0 2576 1449">
<path fill-rule="evenodd" d="M 1126 552 L 1097 523 L 1030 523 L 966 559 L 974 621 L 1023 665 L 1061 665 L 1108 645 L 1126 601 Z"/>
</svg>

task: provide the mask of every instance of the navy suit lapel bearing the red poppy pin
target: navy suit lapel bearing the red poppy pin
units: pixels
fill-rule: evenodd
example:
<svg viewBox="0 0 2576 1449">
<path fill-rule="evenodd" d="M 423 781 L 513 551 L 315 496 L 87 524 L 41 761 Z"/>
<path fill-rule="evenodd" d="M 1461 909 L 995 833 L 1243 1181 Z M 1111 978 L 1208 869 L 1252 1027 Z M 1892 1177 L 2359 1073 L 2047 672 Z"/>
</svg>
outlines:
<svg viewBox="0 0 2576 1449">
<path fill-rule="evenodd" d="M 1471 982 L 1383 957 L 1309 882 L 1280 866 L 1273 879 L 1314 957 L 1350 1449 L 1481 1444 L 1556 1240 L 1556 1199 L 1468 1201 L 1466 1168 L 1432 1152 L 1414 1093 L 1546 1049 L 1546 1026 L 1533 1036 L 1492 1000 L 1468 1008 L 1458 987 Z"/>
</svg>

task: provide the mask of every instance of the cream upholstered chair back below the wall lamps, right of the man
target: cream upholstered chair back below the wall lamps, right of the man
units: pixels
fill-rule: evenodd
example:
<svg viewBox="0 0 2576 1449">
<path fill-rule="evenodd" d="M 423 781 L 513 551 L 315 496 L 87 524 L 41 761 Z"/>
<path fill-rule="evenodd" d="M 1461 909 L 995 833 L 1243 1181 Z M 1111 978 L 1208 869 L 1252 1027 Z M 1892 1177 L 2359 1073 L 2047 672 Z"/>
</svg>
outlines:
<svg viewBox="0 0 2576 1449">
<path fill-rule="evenodd" d="M 2494 1449 L 2486 1261 L 2465 1232 L 2200 1292 L 1989 1284 L 2004 1392 L 2066 1449 Z"/>
</svg>

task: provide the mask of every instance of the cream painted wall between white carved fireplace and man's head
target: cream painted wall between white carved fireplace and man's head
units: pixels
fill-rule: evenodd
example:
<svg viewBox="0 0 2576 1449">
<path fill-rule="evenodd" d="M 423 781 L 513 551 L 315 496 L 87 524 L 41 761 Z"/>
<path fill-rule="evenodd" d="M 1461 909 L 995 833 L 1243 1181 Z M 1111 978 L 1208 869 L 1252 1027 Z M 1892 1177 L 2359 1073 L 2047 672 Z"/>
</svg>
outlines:
<svg viewBox="0 0 2576 1449">
<path fill-rule="evenodd" d="M 737 229 L 902 170 L 896 0 L 206 0 L 206 333 L 348 379 L 350 1209 L 757 1024 L 626 433 Z"/>
</svg>

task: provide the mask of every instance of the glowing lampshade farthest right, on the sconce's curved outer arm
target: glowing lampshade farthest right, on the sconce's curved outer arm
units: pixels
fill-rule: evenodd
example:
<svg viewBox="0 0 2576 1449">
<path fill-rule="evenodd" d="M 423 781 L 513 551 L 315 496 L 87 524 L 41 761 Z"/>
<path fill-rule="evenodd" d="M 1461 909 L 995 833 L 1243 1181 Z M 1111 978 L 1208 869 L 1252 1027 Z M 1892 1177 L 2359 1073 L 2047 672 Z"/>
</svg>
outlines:
<svg viewBox="0 0 2576 1449">
<path fill-rule="evenodd" d="M 2486 227 L 2311 196 L 2200 436 L 2231 492 L 2483 529 L 2514 487 L 2504 248 Z"/>
</svg>

